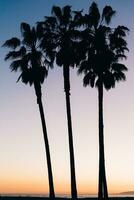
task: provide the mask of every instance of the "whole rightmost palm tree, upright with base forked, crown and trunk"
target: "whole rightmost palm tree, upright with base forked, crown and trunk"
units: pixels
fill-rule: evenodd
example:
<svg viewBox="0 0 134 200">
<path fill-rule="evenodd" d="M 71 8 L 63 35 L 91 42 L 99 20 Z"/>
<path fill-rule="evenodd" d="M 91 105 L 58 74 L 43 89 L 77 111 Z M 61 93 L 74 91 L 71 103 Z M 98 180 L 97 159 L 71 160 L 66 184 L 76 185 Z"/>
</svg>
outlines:
<svg viewBox="0 0 134 200">
<path fill-rule="evenodd" d="M 96 3 L 92 3 L 89 13 L 84 16 L 85 29 L 82 30 L 85 45 L 85 59 L 80 63 L 78 73 L 84 73 L 84 86 L 98 89 L 99 110 L 99 181 L 98 197 L 108 198 L 104 156 L 103 90 L 115 87 L 115 83 L 126 79 L 127 67 L 119 63 L 126 58 L 128 50 L 125 41 L 127 27 L 109 27 L 115 11 L 105 6 L 100 14 Z"/>
</svg>

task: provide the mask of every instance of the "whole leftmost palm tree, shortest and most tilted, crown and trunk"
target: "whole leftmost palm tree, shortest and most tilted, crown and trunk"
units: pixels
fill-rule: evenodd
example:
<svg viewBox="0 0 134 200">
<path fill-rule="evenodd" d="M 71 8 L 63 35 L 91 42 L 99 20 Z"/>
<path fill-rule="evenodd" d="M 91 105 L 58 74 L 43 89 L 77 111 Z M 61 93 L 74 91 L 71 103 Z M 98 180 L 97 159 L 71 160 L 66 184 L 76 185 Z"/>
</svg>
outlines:
<svg viewBox="0 0 134 200">
<path fill-rule="evenodd" d="M 21 23 L 21 34 L 21 40 L 14 37 L 4 43 L 3 46 L 11 48 L 11 51 L 6 55 L 5 60 L 13 60 L 10 64 L 11 71 L 21 71 L 18 81 L 21 79 L 23 83 L 29 83 L 30 86 L 34 86 L 46 148 L 49 195 L 51 198 L 54 198 L 53 174 L 41 92 L 41 84 L 48 74 L 48 68 L 45 66 L 48 56 L 40 49 L 40 27 L 36 26 L 31 28 L 29 24 Z M 49 63 L 52 64 L 52 60 L 49 60 Z"/>
</svg>

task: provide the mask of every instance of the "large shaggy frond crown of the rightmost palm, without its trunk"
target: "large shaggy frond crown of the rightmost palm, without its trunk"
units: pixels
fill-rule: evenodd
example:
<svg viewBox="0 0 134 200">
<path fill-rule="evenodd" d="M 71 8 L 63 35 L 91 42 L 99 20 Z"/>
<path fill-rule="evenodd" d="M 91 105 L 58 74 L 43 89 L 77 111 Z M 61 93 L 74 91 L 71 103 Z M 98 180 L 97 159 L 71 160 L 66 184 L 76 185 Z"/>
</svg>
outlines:
<svg viewBox="0 0 134 200">
<path fill-rule="evenodd" d="M 78 73 L 84 73 L 84 86 L 91 87 L 103 83 L 109 90 L 115 87 L 116 81 L 125 80 L 124 71 L 127 67 L 119 63 L 126 58 L 125 51 L 128 50 L 125 41 L 127 27 L 118 26 L 110 28 L 115 11 L 110 6 L 105 6 L 100 15 L 96 3 L 89 9 L 89 14 L 84 16 L 86 29 L 83 30 L 85 46 L 85 59 L 82 60 Z"/>
</svg>

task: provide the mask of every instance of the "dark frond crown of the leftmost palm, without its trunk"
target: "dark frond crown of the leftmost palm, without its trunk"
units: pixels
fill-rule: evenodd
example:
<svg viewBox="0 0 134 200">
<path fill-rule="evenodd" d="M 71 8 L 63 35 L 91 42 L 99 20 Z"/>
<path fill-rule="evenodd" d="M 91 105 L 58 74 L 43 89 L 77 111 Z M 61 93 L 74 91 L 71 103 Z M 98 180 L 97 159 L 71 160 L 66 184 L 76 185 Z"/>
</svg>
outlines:
<svg viewBox="0 0 134 200">
<path fill-rule="evenodd" d="M 39 47 L 38 26 L 30 28 L 27 23 L 21 23 L 21 34 L 22 40 L 14 37 L 4 43 L 3 46 L 12 49 L 6 55 L 5 60 L 13 60 L 10 64 L 12 71 L 21 71 L 18 81 L 21 79 L 30 86 L 34 82 L 42 84 L 48 74 L 48 69 L 45 65 L 46 58 Z"/>
</svg>

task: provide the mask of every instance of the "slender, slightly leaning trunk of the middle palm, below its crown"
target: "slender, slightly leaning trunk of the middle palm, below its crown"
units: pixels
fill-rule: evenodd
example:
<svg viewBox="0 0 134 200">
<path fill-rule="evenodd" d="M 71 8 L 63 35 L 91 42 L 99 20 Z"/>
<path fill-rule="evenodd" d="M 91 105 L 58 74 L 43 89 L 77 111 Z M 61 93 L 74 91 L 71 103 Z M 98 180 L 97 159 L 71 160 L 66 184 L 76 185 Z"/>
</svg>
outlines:
<svg viewBox="0 0 134 200">
<path fill-rule="evenodd" d="M 70 106 L 70 74 L 69 74 L 69 66 L 64 66 L 63 67 L 63 76 L 64 76 L 64 90 L 65 90 L 65 96 L 66 96 L 68 138 L 69 138 L 69 152 L 70 152 L 71 195 L 72 195 L 72 199 L 77 199 L 77 187 L 76 187 L 76 176 L 75 176 L 75 160 L 74 160 L 74 147 L 73 147 L 73 133 L 72 133 L 72 120 L 71 120 L 71 106 Z"/>
</svg>

